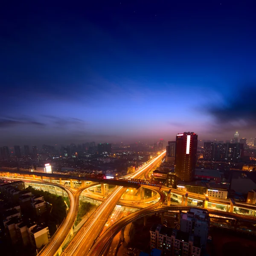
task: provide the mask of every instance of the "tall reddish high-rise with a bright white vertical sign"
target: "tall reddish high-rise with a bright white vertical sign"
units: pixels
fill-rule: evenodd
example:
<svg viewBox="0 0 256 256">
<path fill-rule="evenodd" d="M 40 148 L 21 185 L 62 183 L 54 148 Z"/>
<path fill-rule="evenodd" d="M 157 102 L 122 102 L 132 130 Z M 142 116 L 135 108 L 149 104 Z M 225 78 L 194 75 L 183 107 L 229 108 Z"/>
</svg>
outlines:
<svg viewBox="0 0 256 256">
<path fill-rule="evenodd" d="M 198 135 L 184 132 L 176 136 L 175 172 L 183 181 L 191 181 L 196 165 Z"/>
</svg>

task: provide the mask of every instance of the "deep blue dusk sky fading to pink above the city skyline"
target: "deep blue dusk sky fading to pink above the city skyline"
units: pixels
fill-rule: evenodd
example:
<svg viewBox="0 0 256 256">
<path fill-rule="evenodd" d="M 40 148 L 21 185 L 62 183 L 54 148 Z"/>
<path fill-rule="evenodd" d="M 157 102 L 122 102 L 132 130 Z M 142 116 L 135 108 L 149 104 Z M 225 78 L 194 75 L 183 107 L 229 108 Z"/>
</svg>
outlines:
<svg viewBox="0 0 256 256">
<path fill-rule="evenodd" d="M 3 2 L 1 145 L 256 136 L 255 1 Z"/>
</svg>

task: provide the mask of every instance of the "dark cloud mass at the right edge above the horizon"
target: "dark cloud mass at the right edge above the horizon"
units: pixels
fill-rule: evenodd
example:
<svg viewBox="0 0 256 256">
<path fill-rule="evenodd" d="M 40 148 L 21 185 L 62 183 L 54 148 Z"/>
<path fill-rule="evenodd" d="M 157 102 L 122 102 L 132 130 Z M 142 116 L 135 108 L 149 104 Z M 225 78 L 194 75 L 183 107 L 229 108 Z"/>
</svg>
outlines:
<svg viewBox="0 0 256 256">
<path fill-rule="evenodd" d="M 247 128 L 256 127 L 256 104 L 253 96 L 256 95 L 256 82 L 242 84 L 241 88 L 234 87 L 230 96 L 224 97 L 224 103 L 207 108 L 220 128 Z"/>
</svg>

